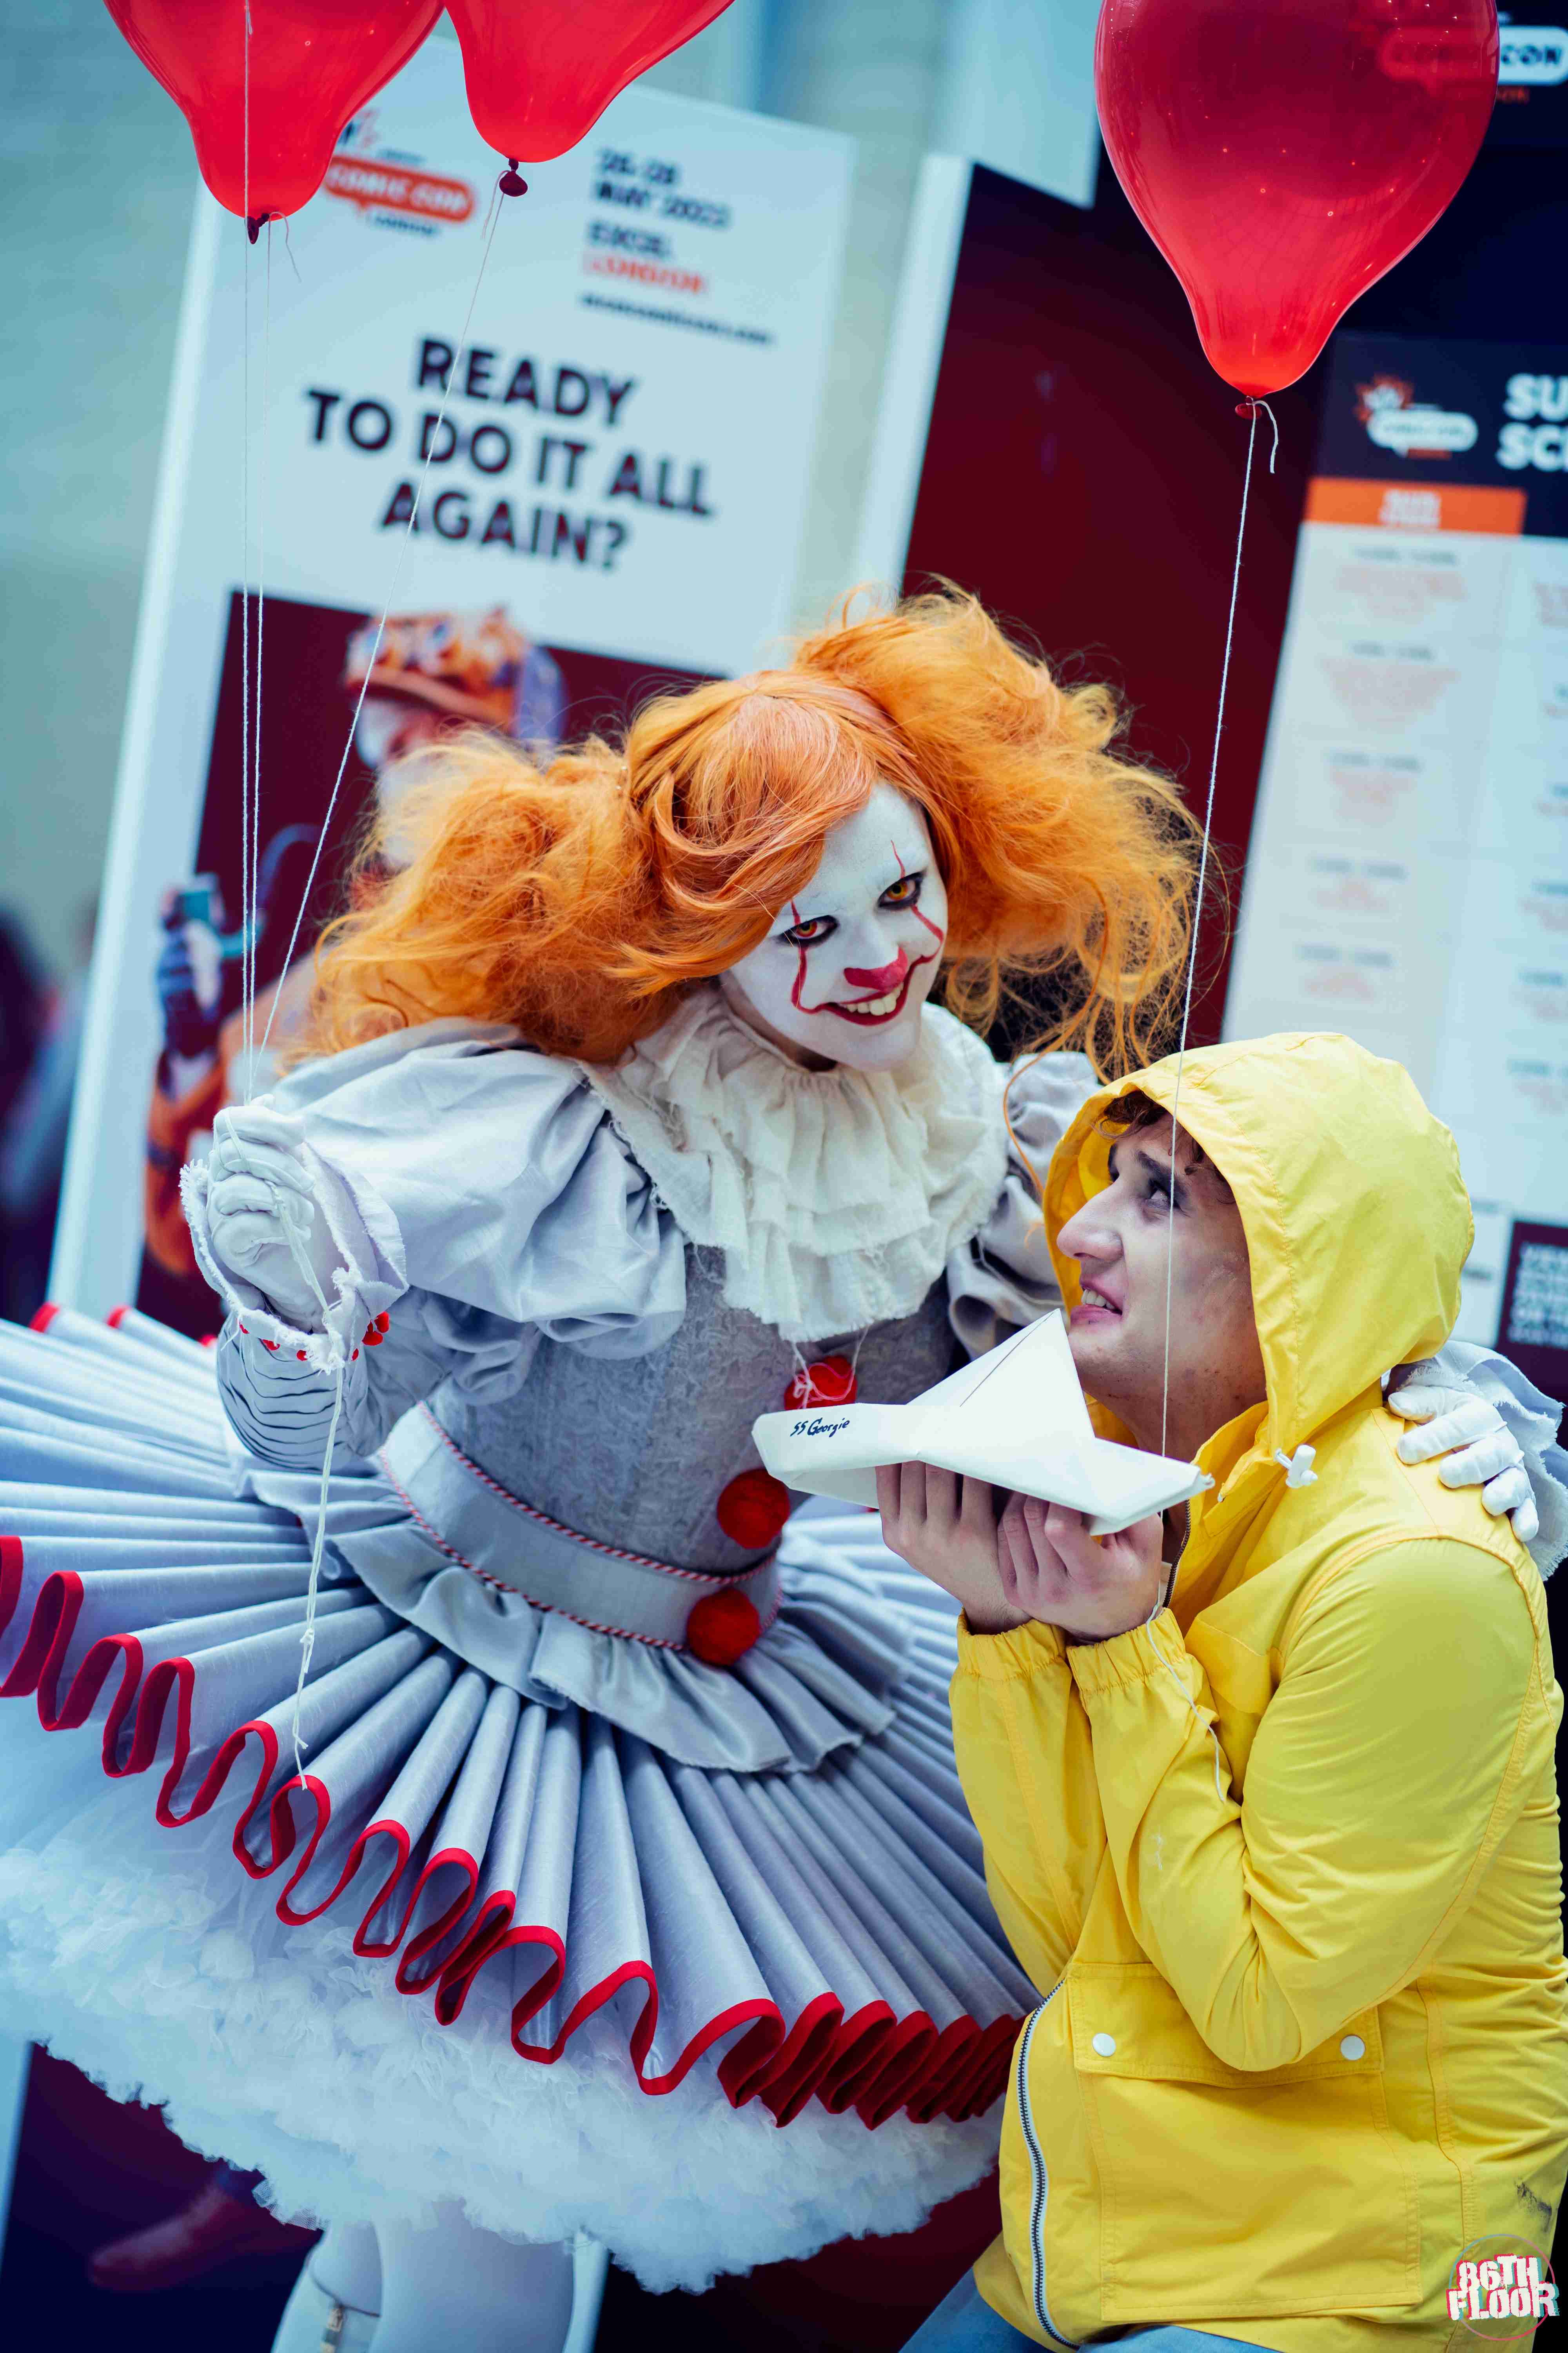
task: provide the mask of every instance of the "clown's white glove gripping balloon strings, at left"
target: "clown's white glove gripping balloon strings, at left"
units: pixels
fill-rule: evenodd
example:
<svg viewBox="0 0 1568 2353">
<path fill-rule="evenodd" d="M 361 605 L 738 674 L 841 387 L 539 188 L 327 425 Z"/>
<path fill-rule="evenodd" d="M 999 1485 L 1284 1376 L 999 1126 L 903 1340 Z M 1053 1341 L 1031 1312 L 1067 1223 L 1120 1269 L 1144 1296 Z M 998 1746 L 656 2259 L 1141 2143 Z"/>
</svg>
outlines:
<svg viewBox="0 0 1568 2353">
<path fill-rule="evenodd" d="M 219 1111 L 207 1158 L 212 1254 L 301 1332 L 322 1332 L 343 1264 L 301 1165 L 301 1120 L 266 1104 Z"/>
</svg>

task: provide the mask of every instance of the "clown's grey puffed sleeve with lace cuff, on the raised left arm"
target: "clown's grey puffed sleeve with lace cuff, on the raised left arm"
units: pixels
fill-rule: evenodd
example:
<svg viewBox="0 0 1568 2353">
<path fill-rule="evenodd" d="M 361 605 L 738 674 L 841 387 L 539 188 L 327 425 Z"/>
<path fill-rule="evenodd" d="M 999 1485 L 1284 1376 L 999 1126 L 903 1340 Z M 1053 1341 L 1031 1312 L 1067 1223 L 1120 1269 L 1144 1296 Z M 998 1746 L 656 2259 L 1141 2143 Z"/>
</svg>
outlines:
<svg viewBox="0 0 1568 2353">
<path fill-rule="evenodd" d="M 597 1355 L 663 1346 L 686 1311 L 686 1252 L 576 1066 L 515 1031 L 433 1021 L 303 1064 L 270 1096 L 303 1122 L 301 1162 L 339 1245 L 339 1294 L 299 1329 L 219 1264 L 207 1184 L 186 1217 L 230 1315 L 223 1407 L 263 1461 L 369 1454 L 447 1379 L 505 1395 L 541 1334 Z"/>
</svg>

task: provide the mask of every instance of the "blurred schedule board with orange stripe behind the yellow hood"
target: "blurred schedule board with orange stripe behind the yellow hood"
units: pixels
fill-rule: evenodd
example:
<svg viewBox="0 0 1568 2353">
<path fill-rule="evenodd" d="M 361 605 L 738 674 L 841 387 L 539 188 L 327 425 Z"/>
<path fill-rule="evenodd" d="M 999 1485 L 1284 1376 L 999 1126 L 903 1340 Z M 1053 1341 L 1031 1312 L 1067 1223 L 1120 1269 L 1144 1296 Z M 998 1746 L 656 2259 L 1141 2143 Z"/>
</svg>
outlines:
<svg viewBox="0 0 1568 2353">
<path fill-rule="evenodd" d="M 1460 1329 L 1568 1379 L 1568 348 L 1340 336 L 1225 1009 L 1460 1144 Z"/>
</svg>

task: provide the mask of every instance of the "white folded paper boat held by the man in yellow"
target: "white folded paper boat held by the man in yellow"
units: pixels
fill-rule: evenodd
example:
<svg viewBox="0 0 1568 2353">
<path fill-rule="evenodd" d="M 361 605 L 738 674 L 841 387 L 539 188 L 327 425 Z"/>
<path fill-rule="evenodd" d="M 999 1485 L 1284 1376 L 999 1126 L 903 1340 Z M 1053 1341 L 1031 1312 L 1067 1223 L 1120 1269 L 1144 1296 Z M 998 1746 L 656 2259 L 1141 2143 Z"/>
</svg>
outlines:
<svg viewBox="0 0 1568 2353">
<path fill-rule="evenodd" d="M 773 1478 L 804 1494 L 875 1504 L 877 1466 L 917 1461 L 1067 1504 L 1088 1513 L 1095 1537 L 1211 1485 L 1197 1464 L 1095 1438 L 1060 1313 L 1025 1325 L 912 1405 L 759 1414 L 752 1438 Z"/>
</svg>

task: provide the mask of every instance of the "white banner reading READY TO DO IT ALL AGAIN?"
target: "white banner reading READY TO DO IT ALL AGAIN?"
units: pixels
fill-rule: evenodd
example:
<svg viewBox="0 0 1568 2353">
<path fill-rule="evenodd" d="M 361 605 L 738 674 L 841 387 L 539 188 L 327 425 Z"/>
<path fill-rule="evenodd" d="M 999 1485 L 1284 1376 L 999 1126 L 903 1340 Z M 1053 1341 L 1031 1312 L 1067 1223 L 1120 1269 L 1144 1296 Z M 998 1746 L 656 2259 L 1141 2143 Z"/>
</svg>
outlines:
<svg viewBox="0 0 1568 2353">
<path fill-rule="evenodd" d="M 407 774 L 397 755 L 456 725 L 550 746 L 618 727 L 661 685 L 776 659 L 851 155 L 635 87 L 581 148 L 531 165 L 527 195 L 498 198 L 458 52 L 425 42 L 287 233 L 252 249 L 202 198 L 59 1299 L 106 1313 L 134 1297 L 212 1327 L 179 1169 L 221 1104 L 275 1075 L 355 838 Z M 247 767 L 261 1026 L 277 991 L 254 1068 Z"/>
</svg>

